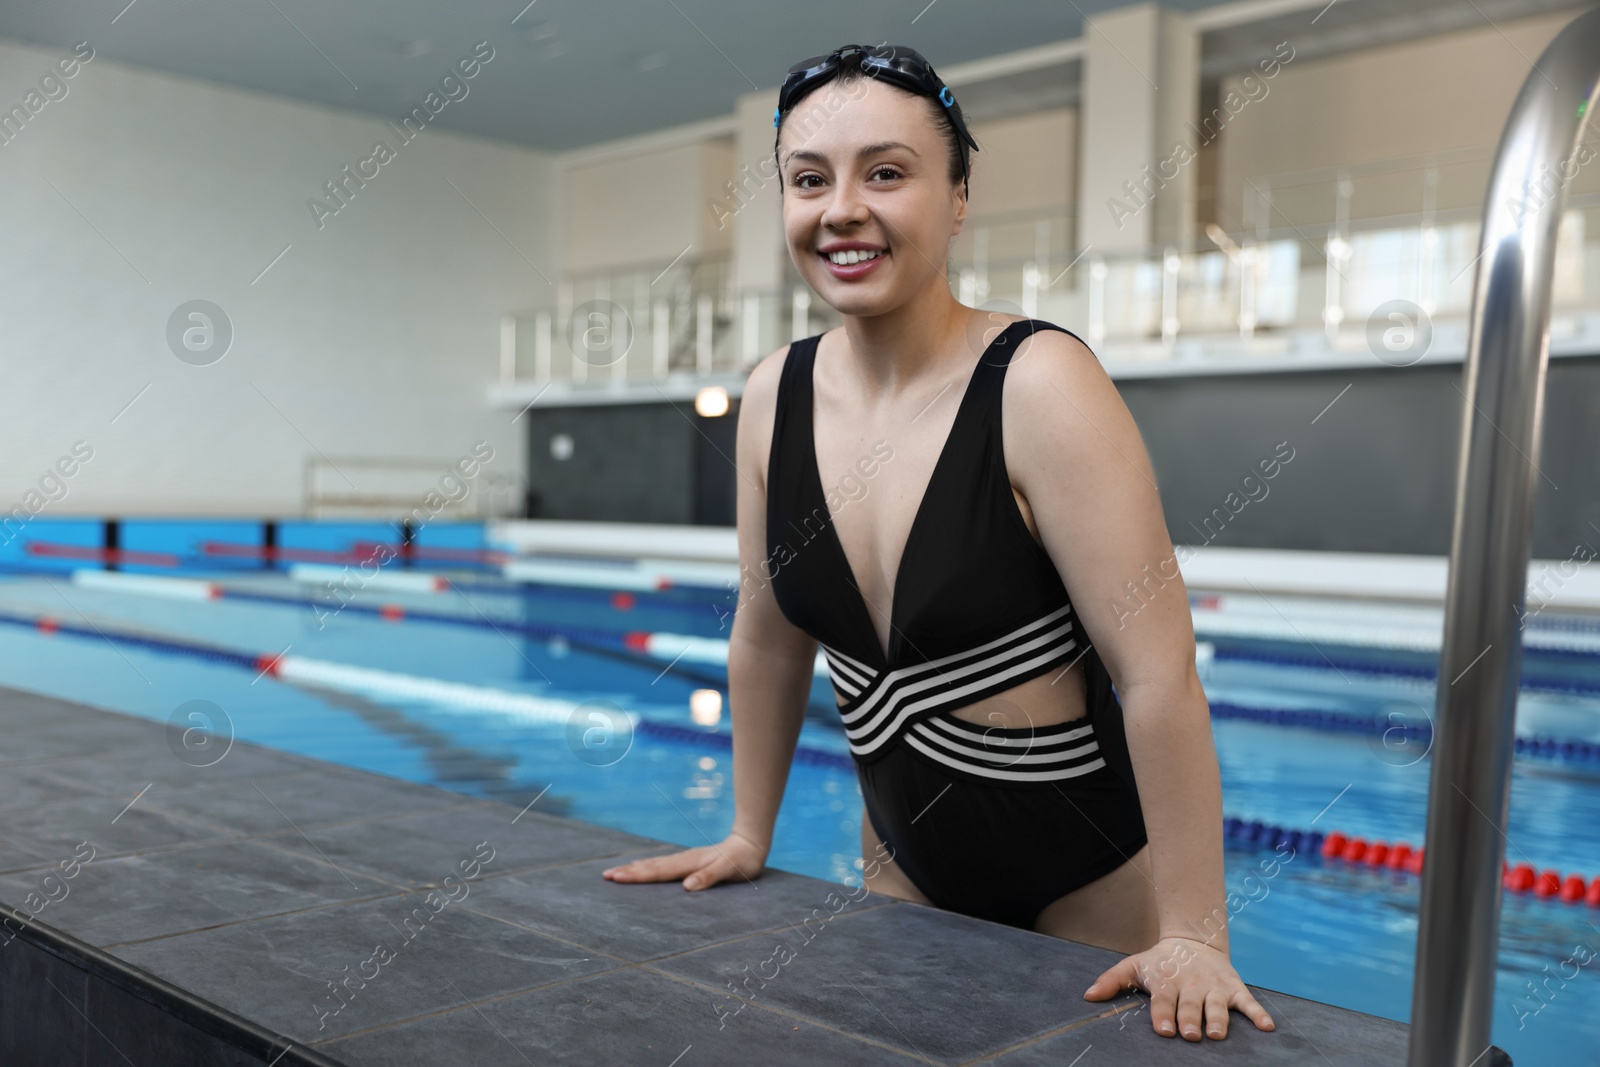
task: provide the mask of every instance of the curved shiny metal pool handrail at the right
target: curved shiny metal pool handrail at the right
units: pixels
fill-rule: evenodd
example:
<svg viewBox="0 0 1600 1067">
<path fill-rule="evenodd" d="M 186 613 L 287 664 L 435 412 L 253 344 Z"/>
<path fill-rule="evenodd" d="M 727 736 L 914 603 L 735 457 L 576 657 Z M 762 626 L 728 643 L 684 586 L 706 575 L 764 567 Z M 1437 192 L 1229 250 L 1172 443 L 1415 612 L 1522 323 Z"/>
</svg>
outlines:
<svg viewBox="0 0 1600 1067">
<path fill-rule="evenodd" d="M 1488 1062 L 1555 235 L 1597 78 L 1600 10 L 1573 19 L 1523 82 L 1483 210 L 1408 1067 Z M 1530 211 L 1531 189 L 1546 195 Z"/>
</svg>

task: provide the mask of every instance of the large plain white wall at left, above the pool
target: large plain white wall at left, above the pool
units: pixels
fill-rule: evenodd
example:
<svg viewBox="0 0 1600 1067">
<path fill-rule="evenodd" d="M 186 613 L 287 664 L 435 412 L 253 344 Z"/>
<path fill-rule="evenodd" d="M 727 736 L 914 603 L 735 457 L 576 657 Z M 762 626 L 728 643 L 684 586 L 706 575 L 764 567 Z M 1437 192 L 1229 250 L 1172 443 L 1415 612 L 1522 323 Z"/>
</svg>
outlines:
<svg viewBox="0 0 1600 1067">
<path fill-rule="evenodd" d="M 0 42 L 0 109 L 62 54 Z M 66 85 L 0 144 L 0 512 L 80 438 L 94 456 L 46 515 L 291 515 L 317 450 L 453 461 L 485 438 L 520 472 L 486 394 L 501 315 L 563 269 L 547 157 L 434 126 L 402 147 L 370 115 L 104 58 Z M 307 200 L 378 139 L 395 158 L 318 229 Z M 195 298 L 235 330 L 210 366 L 166 342 Z"/>
</svg>

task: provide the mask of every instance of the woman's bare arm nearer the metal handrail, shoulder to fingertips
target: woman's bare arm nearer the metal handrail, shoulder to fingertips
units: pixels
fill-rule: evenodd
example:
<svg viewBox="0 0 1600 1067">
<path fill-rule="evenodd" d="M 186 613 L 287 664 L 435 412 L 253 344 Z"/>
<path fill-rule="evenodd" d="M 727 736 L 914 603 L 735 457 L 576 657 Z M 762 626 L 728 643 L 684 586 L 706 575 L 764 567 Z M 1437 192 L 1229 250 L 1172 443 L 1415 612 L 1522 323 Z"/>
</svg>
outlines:
<svg viewBox="0 0 1600 1067">
<path fill-rule="evenodd" d="M 1152 1022 L 1165 1033 L 1176 1008 L 1186 1037 L 1200 1037 L 1202 1009 L 1221 1037 L 1229 1001 L 1269 1029 L 1227 963 L 1216 747 L 1189 593 L 1138 426 L 1094 355 L 1053 331 L 1013 362 L 1006 403 L 1006 464 L 1117 685 L 1150 841 L 1162 941 L 1090 992 L 1114 995 L 1136 976 L 1155 995 Z M 1160 977 L 1176 987 L 1165 1017 L 1149 974 L 1157 961 L 1168 961 Z"/>
</svg>

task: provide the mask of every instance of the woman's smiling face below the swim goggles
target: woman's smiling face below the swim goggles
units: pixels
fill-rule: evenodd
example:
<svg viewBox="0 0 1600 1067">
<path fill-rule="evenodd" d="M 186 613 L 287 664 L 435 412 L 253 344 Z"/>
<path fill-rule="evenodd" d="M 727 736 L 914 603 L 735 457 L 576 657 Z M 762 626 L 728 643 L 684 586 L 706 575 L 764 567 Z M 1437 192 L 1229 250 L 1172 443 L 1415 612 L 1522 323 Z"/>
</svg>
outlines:
<svg viewBox="0 0 1600 1067">
<path fill-rule="evenodd" d="M 966 198 L 928 101 L 872 78 L 811 93 L 784 118 L 784 232 L 800 277 L 843 315 L 946 286 Z"/>
</svg>

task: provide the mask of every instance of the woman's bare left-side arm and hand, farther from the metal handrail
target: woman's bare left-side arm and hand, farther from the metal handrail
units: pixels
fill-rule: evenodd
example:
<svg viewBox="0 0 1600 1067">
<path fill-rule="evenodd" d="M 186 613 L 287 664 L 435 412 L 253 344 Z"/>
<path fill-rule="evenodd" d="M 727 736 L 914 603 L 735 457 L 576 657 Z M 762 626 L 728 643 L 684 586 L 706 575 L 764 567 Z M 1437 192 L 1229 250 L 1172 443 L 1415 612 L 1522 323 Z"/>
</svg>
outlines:
<svg viewBox="0 0 1600 1067">
<path fill-rule="evenodd" d="M 739 598 L 728 638 L 733 832 L 718 845 L 613 867 L 605 872 L 613 881 L 682 878 L 686 889 L 704 889 L 754 878 L 771 851 L 816 659 L 816 641 L 795 629 L 773 598 L 776 561 L 766 558 L 766 454 L 786 352 L 774 352 L 750 373 L 739 406 Z"/>
</svg>

